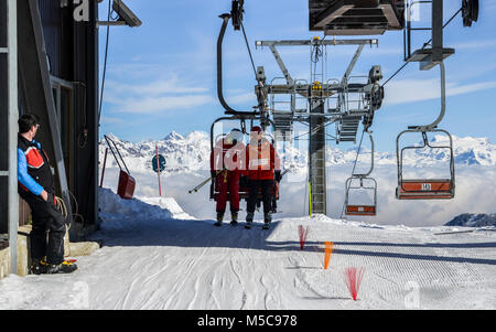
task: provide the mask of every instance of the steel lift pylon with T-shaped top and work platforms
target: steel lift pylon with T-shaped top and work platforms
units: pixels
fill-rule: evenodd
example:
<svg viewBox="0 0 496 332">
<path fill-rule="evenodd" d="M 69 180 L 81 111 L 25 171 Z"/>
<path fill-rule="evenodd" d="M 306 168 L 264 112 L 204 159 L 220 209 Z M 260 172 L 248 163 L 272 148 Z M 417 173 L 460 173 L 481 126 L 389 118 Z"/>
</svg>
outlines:
<svg viewBox="0 0 496 332">
<path fill-rule="evenodd" d="M 325 82 L 325 54 L 326 46 L 356 45 L 357 50 L 341 79 Z M 271 97 L 269 108 L 276 132 L 281 140 L 289 140 L 292 133 L 292 125 L 302 122 L 309 127 L 309 211 L 312 214 L 327 214 L 327 174 L 325 167 L 326 127 L 336 125 L 336 142 L 356 141 L 356 135 L 360 121 L 371 122 L 374 113 L 380 107 L 384 90 L 379 81 L 382 78 L 380 66 L 374 66 L 367 82 L 352 83 L 352 72 L 366 45 L 377 46 L 377 40 L 290 40 L 290 41 L 257 41 L 257 47 L 269 47 L 281 69 L 284 83 L 271 84 L 260 88 L 256 87 L 257 95 Z M 311 47 L 311 83 L 304 79 L 294 79 L 289 73 L 277 47 L 280 46 L 309 46 Z M 323 83 L 325 82 L 325 83 Z M 284 110 L 278 108 L 274 96 L 289 95 Z M 357 95 L 358 99 L 352 100 L 351 95 Z M 305 99 L 305 108 L 299 107 L 296 100 Z M 328 103 L 335 99 L 335 105 Z M 279 103 L 280 104 L 280 103 Z M 289 105 L 289 107 L 288 107 Z M 368 125 L 369 126 L 369 125 Z"/>
</svg>

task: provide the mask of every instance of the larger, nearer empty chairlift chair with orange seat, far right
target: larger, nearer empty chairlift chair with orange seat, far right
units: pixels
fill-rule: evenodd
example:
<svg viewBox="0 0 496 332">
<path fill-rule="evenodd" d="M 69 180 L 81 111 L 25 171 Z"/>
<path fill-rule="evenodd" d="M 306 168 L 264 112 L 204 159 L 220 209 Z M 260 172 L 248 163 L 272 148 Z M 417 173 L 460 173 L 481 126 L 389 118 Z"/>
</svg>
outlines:
<svg viewBox="0 0 496 332">
<path fill-rule="evenodd" d="M 451 200 L 455 194 L 455 172 L 453 156 L 453 139 L 446 130 L 438 129 L 438 124 L 445 114 L 445 71 L 444 64 L 441 62 L 441 114 L 438 119 L 428 126 L 409 127 L 408 130 L 400 132 L 396 140 L 396 154 L 398 163 L 398 188 L 396 189 L 396 197 L 398 200 Z M 406 133 L 422 135 L 422 146 L 407 146 L 400 149 L 400 138 Z M 449 144 L 433 147 L 428 139 L 429 133 L 443 133 L 449 138 Z M 449 179 L 405 179 L 403 178 L 403 157 L 408 150 L 420 149 L 445 149 L 450 151 L 450 178 Z"/>
</svg>

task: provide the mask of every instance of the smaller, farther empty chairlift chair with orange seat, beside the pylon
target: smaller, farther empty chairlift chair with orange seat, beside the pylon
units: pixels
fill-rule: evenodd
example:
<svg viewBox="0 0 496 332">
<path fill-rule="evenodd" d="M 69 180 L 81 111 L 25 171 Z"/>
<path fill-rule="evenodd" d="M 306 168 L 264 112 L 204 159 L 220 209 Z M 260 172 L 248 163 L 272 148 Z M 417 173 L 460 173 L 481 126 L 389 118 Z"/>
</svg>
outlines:
<svg viewBox="0 0 496 332">
<path fill-rule="evenodd" d="M 354 216 L 375 216 L 377 215 L 377 181 L 370 178 L 370 173 L 374 170 L 374 139 L 371 133 L 366 130 L 370 138 L 371 143 L 371 162 L 370 170 L 365 174 L 353 174 L 352 178 L 346 180 L 345 184 L 345 214 Z M 359 151 L 357 151 L 359 153 Z M 359 181 L 359 185 L 354 185 L 354 182 Z M 371 184 L 364 184 L 369 182 Z M 358 204 L 355 202 L 351 203 L 349 193 L 351 192 L 373 192 L 373 202 L 368 204 Z"/>
</svg>

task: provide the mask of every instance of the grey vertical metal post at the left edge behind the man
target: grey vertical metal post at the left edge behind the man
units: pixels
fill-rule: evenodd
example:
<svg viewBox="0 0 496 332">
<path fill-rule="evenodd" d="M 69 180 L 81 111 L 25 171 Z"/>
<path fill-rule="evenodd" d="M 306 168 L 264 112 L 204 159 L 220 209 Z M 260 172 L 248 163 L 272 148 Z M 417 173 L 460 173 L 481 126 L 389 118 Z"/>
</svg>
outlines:
<svg viewBox="0 0 496 332">
<path fill-rule="evenodd" d="M 8 170 L 0 170 L 0 178 L 8 178 L 8 227 L 10 247 L 10 272 L 17 274 L 18 269 L 18 225 L 19 225 L 19 197 L 18 197 L 18 11 L 17 0 L 2 1 L 0 4 L 0 20 L 7 22 L 7 30 L 0 30 L 0 65 L 7 63 L 7 75 L 2 75 L 0 86 L 7 85 L 7 109 L 1 109 L 1 116 L 8 118 L 7 141 Z M 3 44 L 7 42 L 7 44 Z M 7 57 L 7 62 L 4 61 Z M 3 160 L 3 159 L 2 159 Z M 4 183 L 3 180 L 1 180 Z"/>
</svg>

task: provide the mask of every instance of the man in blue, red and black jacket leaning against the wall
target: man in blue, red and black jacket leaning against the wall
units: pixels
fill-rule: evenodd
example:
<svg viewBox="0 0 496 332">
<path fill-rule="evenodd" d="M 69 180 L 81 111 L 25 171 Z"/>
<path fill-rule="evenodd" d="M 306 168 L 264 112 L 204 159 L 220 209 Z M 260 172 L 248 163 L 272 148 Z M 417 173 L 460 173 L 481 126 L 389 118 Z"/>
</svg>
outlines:
<svg viewBox="0 0 496 332">
<path fill-rule="evenodd" d="M 31 271 L 35 275 L 69 274 L 77 266 L 64 260 L 65 218 L 56 207 L 48 158 L 41 143 L 34 140 L 39 129 L 37 116 L 26 114 L 19 118 L 18 191 L 32 214 Z"/>
</svg>

